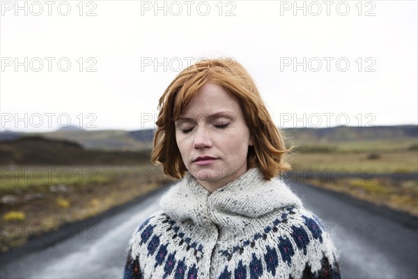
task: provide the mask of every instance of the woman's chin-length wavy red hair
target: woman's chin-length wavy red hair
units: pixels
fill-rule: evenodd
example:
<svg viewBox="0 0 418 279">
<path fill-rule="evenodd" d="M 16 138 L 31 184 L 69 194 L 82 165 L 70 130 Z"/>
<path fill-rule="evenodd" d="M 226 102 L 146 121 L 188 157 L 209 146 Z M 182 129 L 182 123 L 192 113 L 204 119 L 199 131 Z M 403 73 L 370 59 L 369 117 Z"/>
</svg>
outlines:
<svg viewBox="0 0 418 279">
<path fill-rule="evenodd" d="M 260 167 L 267 180 L 290 169 L 285 161 L 284 137 L 274 125 L 256 84 L 245 68 L 233 59 L 206 59 L 182 70 L 162 94 L 156 121 L 151 162 L 162 164 L 164 173 L 180 179 L 187 172 L 176 142 L 174 121 L 194 94 L 206 82 L 224 87 L 238 101 L 254 135 L 254 146 L 249 146 L 247 167 Z"/>
</svg>

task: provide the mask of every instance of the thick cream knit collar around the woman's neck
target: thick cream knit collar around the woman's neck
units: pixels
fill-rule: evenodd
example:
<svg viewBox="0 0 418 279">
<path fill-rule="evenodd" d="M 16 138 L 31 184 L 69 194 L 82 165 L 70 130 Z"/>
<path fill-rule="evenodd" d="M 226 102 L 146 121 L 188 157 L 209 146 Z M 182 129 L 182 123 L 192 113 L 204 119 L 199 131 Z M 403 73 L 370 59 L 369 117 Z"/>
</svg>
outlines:
<svg viewBox="0 0 418 279">
<path fill-rule="evenodd" d="M 160 206 L 178 223 L 192 223 L 203 230 L 216 226 L 225 235 L 260 232 L 265 217 L 273 220 L 277 211 L 287 206 L 303 208 L 300 198 L 283 181 L 266 181 L 258 167 L 212 194 L 187 172 L 163 195 Z"/>
</svg>

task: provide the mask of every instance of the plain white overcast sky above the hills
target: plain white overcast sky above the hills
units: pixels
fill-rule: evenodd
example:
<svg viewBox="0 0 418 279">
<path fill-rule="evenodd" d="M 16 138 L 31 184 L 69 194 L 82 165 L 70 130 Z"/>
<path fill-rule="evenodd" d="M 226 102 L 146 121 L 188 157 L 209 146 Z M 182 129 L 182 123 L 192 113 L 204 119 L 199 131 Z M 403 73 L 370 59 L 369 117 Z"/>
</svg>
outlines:
<svg viewBox="0 0 418 279">
<path fill-rule="evenodd" d="M 159 1 L 165 10 L 155 10 L 155 1 L 52 2 L 49 16 L 45 1 L 19 1 L 28 15 L 1 1 L 1 130 L 153 128 L 178 62 L 183 69 L 189 57 L 219 56 L 247 68 L 278 126 L 418 123 L 417 1 L 331 1 L 330 15 L 324 1 L 298 1 L 306 15 L 293 1 L 189 1 L 190 15 L 187 1 Z M 67 6 L 69 15 L 60 15 Z M 15 58 L 23 65 L 25 57 L 27 72 L 16 70 Z M 45 57 L 54 59 L 50 72 Z M 329 71 L 323 57 L 332 59 Z M 293 58 L 301 62 L 296 70 Z M 59 59 L 63 68 L 71 62 L 68 71 Z M 94 61 L 96 71 L 87 72 Z"/>
</svg>

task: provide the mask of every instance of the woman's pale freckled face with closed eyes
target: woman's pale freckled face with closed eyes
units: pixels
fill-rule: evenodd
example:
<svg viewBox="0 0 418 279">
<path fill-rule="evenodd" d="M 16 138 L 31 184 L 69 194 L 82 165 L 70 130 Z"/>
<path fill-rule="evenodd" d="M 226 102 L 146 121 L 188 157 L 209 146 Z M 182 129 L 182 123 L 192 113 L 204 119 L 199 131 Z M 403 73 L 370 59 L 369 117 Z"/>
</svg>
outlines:
<svg viewBox="0 0 418 279">
<path fill-rule="evenodd" d="M 238 99 L 207 82 L 176 121 L 176 142 L 190 174 L 212 193 L 247 172 L 248 146 L 254 145 L 254 138 Z M 199 160 L 203 156 L 212 159 Z"/>
</svg>

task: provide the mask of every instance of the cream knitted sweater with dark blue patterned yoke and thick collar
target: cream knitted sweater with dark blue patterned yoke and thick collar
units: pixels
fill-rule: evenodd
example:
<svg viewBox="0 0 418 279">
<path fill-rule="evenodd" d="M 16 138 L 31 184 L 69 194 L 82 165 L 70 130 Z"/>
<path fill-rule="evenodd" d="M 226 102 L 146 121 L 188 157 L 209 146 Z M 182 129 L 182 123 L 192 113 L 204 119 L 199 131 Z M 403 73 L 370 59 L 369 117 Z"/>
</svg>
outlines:
<svg viewBox="0 0 418 279">
<path fill-rule="evenodd" d="M 314 213 L 258 167 L 210 193 L 187 173 L 130 240 L 127 278 L 341 278 Z"/>
</svg>

